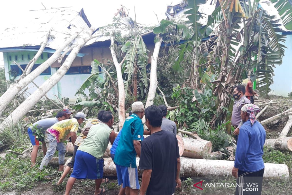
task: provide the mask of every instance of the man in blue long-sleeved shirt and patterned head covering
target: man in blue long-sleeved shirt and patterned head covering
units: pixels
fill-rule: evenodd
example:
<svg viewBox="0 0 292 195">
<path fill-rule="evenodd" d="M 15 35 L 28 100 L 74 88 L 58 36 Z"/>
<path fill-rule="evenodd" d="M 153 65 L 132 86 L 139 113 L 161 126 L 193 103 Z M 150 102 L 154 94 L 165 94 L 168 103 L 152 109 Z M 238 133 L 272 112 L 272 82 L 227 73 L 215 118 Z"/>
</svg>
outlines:
<svg viewBox="0 0 292 195">
<path fill-rule="evenodd" d="M 243 125 L 240 127 L 232 175 L 237 178 L 236 195 L 261 194 L 265 165 L 263 147 L 266 131 L 256 121 L 258 106 L 245 104 L 241 108 Z"/>
</svg>

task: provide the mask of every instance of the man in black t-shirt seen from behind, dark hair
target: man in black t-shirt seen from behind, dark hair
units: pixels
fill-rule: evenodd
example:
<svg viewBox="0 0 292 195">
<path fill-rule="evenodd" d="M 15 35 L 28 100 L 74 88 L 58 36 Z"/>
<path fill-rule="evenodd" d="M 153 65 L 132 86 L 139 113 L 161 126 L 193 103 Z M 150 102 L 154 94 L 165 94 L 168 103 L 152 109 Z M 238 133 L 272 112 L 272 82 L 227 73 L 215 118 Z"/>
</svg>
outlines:
<svg viewBox="0 0 292 195">
<path fill-rule="evenodd" d="M 161 129 L 162 111 L 157 106 L 145 109 L 146 126 L 151 135 L 142 141 L 139 169 L 143 169 L 140 195 L 172 195 L 180 188 L 178 140 Z M 175 144 L 173 144 L 175 143 Z"/>
</svg>

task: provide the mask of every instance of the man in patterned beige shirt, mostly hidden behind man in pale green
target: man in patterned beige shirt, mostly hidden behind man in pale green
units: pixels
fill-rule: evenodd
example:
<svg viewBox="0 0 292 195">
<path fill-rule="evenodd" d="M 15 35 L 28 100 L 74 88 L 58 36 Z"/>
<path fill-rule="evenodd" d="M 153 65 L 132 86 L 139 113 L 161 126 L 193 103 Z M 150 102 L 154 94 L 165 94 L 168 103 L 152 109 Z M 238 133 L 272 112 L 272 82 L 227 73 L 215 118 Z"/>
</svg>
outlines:
<svg viewBox="0 0 292 195">
<path fill-rule="evenodd" d="M 75 144 L 74 144 L 74 151 L 73 151 L 73 156 L 72 156 L 72 159 L 70 161 L 70 163 L 67 164 L 63 174 L 62 174 L 62 177 L 59 179 L 57 185 L 60 185 L 64 178 L 66 177 L 66 175 L 70 172 L 71 168 L 74 167 L 74 162 L 75 162 L 75 155 L 76 155 L 76 152 L 80 146 L 80 144 L 83 142 L 83 140 L 87 137 L 87 134 L 89 132 L 89 129 L 93 126 L 93 125 L 97 125 L 98 123 L 101 122 L 101 119 L 102 119 L 102 115 L 105 111 L 99 111 L 98 112 L 98 115 L 97 115 L 97 119 L 96 118 L 89 118 L 86 120 L 85 122 L 85 125 L 83 127 L 83 130 L 81 132 L 81 134 L 77 137 L 76 141 L 75 141 Z"/>
</svg>

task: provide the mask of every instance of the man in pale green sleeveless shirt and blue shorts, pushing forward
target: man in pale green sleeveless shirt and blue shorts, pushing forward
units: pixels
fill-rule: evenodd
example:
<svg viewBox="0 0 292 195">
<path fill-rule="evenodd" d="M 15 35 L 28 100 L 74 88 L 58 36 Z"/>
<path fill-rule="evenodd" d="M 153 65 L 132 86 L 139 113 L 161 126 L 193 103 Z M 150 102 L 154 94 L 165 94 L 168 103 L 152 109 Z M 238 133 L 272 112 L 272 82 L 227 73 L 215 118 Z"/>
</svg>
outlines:
<svg viewBox="0 0 292 195">
<path fill-rule="evenodd" d="M 65 195 L 69 195 L 76 179 L 95 180 L 95 195 L 105 191 L 105 189 L 100 189 L 104 162 L 102 156 L 109 141 L 111 144 L 114 143 L 116 133 L 111 129 L 114 124 L 112 112 L 104 112 L 101 121 L 90 128 L 87 137 L 76 152 L 74 169 L 67 182 Z"/>
</svg>

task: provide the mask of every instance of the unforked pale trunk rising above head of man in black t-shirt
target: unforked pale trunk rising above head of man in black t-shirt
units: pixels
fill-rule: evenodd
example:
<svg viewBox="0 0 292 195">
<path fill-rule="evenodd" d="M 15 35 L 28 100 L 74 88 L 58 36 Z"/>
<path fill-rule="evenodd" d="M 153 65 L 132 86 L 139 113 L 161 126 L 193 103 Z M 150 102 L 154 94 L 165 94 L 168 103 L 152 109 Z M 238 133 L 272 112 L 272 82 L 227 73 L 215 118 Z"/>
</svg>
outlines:
<svg viewBox="0 0 292 195">
<path fill-rule="evenodd" d="M 148 92 L 145 108 L 153 105 L 153 101 L 155 99 L 155 94 L 156 94 L 156 89 L 157 89 L 157 60 L 158 60 L 158 54 L 160 51 L 160 46 L 162 43 L 162 37 L 159 37 L 159 35 L 157 35 L 157 38 L 159 38 L 159 40 L 155 43 L 154 51 L 151 56 L 149 92 Z M 143 119 L 145 121 L 145 118 Z"/>
</svg>

